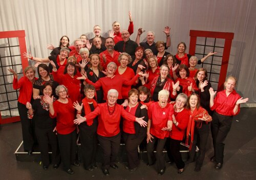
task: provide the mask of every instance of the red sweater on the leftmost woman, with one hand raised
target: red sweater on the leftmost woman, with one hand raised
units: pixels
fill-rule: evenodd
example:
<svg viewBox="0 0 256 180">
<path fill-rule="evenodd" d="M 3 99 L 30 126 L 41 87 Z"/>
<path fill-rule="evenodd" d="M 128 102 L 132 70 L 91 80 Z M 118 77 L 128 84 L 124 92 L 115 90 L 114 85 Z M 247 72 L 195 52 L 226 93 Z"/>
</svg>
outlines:
<svg viewBox="0 0 256 180">
<path fill-rule="evenodd" d="M 35 78 L 37 80 L 38 78 Z M 26 105 L 27 102 L 31 101 L 32 97 L 32 90 L 33 90 L 33 84 L 26 76 L 23 76 L 22 78 L 18 79 L 13 77 L 13 89 L 19 89 L 19 96 L 18 101 Z"/>
</svg>

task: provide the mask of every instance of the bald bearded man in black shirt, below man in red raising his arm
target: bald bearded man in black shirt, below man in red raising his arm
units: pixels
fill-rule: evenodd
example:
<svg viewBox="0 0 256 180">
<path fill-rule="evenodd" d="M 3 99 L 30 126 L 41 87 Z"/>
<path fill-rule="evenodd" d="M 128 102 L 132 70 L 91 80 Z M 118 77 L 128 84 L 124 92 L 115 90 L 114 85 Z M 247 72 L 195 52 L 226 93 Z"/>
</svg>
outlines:
<svg viewBox="0 0 256 180">
<path fill-rule="evenodd" d="M 114 49 L 117 50 L 119 53 L 125 52 L 129 54 L 132 57 L 132 59 L 134 59 L 135 49 L 138 47 L 138 44 L 130 39 L 130 33 L 127 30 L 123 30 L 121 36 L 123 40 L 119 41 L 114 46 Z"/>
</svg>

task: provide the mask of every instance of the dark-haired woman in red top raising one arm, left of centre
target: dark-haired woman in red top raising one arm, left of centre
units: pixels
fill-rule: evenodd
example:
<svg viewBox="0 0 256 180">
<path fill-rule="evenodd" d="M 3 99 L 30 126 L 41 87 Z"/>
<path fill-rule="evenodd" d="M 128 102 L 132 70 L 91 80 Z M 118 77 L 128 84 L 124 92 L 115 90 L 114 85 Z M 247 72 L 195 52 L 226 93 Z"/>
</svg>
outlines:
<svg viewBox="0 0 256 180">
<path fill-rule="evenodd" d="M 51 62 L 52 63 L 52 62 Z M 81 82 L 78 80 L 77 69 L 73 62 L 68 62 L 65 66 L 64 74 L 57 73 L 57 69 L 53 66 L 53 78 L 59 84 L 64 85 L 69 90 L 69 97 L 73 102 L 81 100 Z"/>
</svg>

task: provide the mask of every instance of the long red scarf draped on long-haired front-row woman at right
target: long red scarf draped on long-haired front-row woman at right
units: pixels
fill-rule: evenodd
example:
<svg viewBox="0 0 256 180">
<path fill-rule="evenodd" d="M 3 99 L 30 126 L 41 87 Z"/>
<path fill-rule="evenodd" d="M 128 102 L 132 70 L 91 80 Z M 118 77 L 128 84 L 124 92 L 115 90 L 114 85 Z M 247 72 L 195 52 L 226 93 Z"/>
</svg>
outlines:
<svg viewBox="0 0 256 180">
<path fill-rule="evenodd" d="M 189 110 L 189 114 L 190 114 L 190 116 L 189 116 L 189 121 L 188 121 L 188 125 L 187 125 L 187 132 L 186 132 L 186 144 L 188 145 L 188 136 L 190 133 L 191 141 L 190 141 L 190 145 L 189 145 L 189 150 L 191 150 L 193 140 L 194 140 L 195 122 L 197 123 L 197 128 L 201 128 L 203 121 L 199 118 L 202 118 L 205 114 L 207 115 L 207 118 L 208 118 L 208 117 L 210 117 L 210 115 L 202 107 L 199 107 L 199 109 L 196 108 L 192 114 L 191 114 L 191 110 Z M 210 120 L 211 119 L 209 119 L 208 121 L 210 121 Z M 208 121 L 206 121 L 206 123 L 208 123 Z"/>
</svg>

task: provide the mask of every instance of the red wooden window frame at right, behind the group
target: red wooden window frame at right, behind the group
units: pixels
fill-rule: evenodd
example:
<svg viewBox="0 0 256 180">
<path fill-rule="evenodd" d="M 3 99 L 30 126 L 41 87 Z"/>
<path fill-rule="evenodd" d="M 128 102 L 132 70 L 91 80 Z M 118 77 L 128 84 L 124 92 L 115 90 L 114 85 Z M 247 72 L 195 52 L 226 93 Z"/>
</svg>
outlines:
<svg viewBox="0 0 256 180">
<path fill-rule="evenodd" d="M 224 85 L 224 82 L 226 80 L 226 75 L 227 75 L 228 61 L 229 61 L 232 40 L 234 38 L 234 33 L 190 30 L 189 36 L 190 36 L 190 43 L 189 43 L 189 54 L 190 55 L 195 55 L 197 37 L 225 39 L 223 55 L 222 55 L 221 70 L 220 70 L 220 77 L 219 77 L 219 83 L 218 83 L 218 91 L 223 90 L 223 87 L 224 87 L 223 85 Z"/>
</svg>

